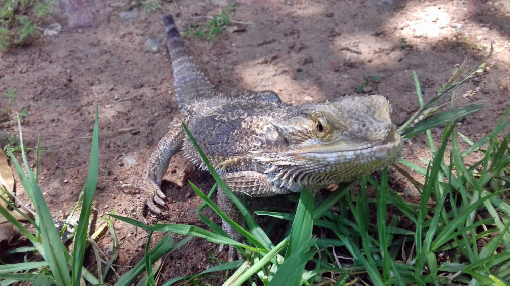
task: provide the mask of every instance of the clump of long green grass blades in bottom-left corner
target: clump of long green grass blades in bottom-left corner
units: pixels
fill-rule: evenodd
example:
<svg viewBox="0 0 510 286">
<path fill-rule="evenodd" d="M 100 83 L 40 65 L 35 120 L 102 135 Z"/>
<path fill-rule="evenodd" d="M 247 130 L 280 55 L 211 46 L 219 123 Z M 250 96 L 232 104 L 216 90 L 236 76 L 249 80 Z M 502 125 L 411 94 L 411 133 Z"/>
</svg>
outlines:
<svg viewBox="0 0 510 286">
<path fill-rule="evenodd" d="M 21 130 L 21 122 L 18 117 L 18 127 Z M 17 227 L 21 234 L 23 234 L 28 241 L 32 244 L 32 247 L 20 247 L 11 249 L 3 252 L 3 261 L 8 260 L 9 255 L 14 253 L 27 253 L 25 255 L 25 261 L 20 263 L 0 265 L 0 281 L 1 285 L 10 285 L 17 282 L 29 282 L 36 285 L 50 285 L 58 284 L 64 286 L 70 285 L 82 285 L 85 284 L 86 280 L 92 285 L 105 285 L 106 275 L 113 271 L 114 260 L 116 253 L 119 249 L 119 243 L 115 230 L 113 227 L 114 220 L 104 218 L 104 225 L 100 226 L 98 230 L 92 234 L 88 234 L 88 223 L 90 219 L 90 213 L 92 208 L 92 201 L 94 197 L 95 188 L 97 185 L 97 172 L 98 172 L 98 156 L 99 156 L 99 128 L 98 128 L 98 116 L 96 111 L 96 120 L 94 125 L 94 131 L 92 135 L 92 149 L 90 154 L 90 165 L 89 173 L 85 183 L 85 187 L 80 194 L 80 202 L 73 210 L 71 216 L 78 211 L 81 203 L 81 211 L 79 214 L 78 222 L 75 225 L 74 237 L 73 237 L 73 249 L 72 251 L 67 250 L 66 244 L 62 242 L 61 235 L 66 228 L 71 227 L 69 222 L 66 222 L 61 230 L 57 230 L 55 227 L 54 220 L 52 219 L 49 208 L 44 201 L 44 196 L 37 183 L 37 162 L 39 159 L 39 149 L 37 149 L 36 156 L 36 167 L 31 169 L 29 167 L 23 145 L 21 144 L 21 157 L 23 161 L 24 170 L 21 164 L 14 156 L 14 150 L 11 147 L 7 147 L 7 153 L 9 154 L 11 161 L 14 164 L 17 175 L 23 185 L 23 189 L 27 192 L 35 209 L 35 219 L 32 219 L 28 215 L 21 212 L 16 205 L 7 201 L 7 199 L 0 196 L 4 202 L 6 202 L 15 212 L 21 214 L 27 221 L 33 225 L 32 229 L 35 234 L 31 233 L 27 227 L 21 224 L 6 208 L 0 205 L 0 215 L 3 215 L 9 223 Z M 23 136 L 20 131 L 20 141 L 23 142 Z M 25 175 L 25 172 L 27 175 Z M 0 184 L 0 191 L 3 191 L 2 185 Z M 114 215 L 112 214 L 112 217 Z M 95 244 L 95 240 L 104 233 L 105 230 L 110 230 L 112 237 L 112 253 L 110 258 L 106 257 L 101 253 Z M 145 270 L 146 265 L 152 265 L 155 262 L 159 262 L 161 265 L 161 256 L 171 252 L 173 249 L 179 248 L 183 244 L 187 243 L 191 237 L 184 239 L 177 245 L 173 245 L 172 237 L 170 235 L 164 236 L 152 249 L 149 249 L 148 245 L 150 238 L 147 241 L 147 247 L 145 250 L 145 258 L 140 261 L 133 269 L 128 271 L 119 277 L 116 285 L 130 285 L 131 281 L 134 280 L 138 275 Z M 88 269 L 83 266 L 85 259 L 85 251 L 87 247 L 91 247 L 97 260 L 97 277 L 95 277 Z M 40 254 L 42 261 L 33 261 L 36 255 L 31 255 L 31 252 L 36 251 Z M 152 272 L 148 272 L 152 273 Z M 150 280 L 148 278 L 142 278 L 142 281 Z M 151 280 L 154 285 L 154 279 Z M 143 283 L 142 284 L 146 284 Z"/>
</svg>

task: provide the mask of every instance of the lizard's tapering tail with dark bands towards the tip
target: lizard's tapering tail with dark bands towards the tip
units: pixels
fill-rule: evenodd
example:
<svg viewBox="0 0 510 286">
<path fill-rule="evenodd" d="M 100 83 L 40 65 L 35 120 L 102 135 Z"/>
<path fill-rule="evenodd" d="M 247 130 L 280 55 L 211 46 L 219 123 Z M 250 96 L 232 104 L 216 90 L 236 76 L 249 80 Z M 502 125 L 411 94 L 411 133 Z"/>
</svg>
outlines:
<svg viewBox="0 0 510 286">
<path fill-rule="evenodd" d="M 175 93 L 179 107 L 182 108 L 189 102 L 200 98 L 214 96 L 215 91 L 212 84 L 200 71 L 184 46 L 172 15 L 163 15 L 163 23 L 165 24 L 168 51 L 172 59 Z"/>
</svg>

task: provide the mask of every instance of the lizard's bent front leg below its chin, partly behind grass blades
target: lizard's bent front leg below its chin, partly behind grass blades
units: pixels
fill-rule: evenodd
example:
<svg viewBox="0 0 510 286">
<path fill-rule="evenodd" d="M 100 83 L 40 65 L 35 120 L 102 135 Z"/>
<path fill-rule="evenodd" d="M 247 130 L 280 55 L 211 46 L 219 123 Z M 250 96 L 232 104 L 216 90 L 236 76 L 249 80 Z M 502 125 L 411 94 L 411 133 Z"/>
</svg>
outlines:
<svg viewBox="0 0 510 286">
<path fill-rule="evenodd" d="M 225 173 L 221 175 L 221 179 L 223 179 L 226 185 L 230 187 L 232 192 L 236 195 L 245 193 L 249 196 L 262 197 L 291 192 L 288 189 L 277 187 L 275 184 L 273 184 L 269 175 L 256 171 Z M 242 227 L 246 226 L 241 212 L 239 212 L 234 203 L 223 191 L 218 192 L 218 206 L 237 224 L 241 225 Z M 242 235 L 236 232 L 230 224 L 228 224 L 223 219 L 222 223 L 222 228 L 228 236 L 237 241 L 241 240 Z M 221 249 L 223 249 L 223 247 L 220 248 L 220 251 Z M 233 261 L 236 254 L 239 256 L 239 258 L 241 258 L 240 254 L 236 252 L 236 249 L 234 247 L 230 247 L 228 249 L 228 260 Z"/>
</svg>

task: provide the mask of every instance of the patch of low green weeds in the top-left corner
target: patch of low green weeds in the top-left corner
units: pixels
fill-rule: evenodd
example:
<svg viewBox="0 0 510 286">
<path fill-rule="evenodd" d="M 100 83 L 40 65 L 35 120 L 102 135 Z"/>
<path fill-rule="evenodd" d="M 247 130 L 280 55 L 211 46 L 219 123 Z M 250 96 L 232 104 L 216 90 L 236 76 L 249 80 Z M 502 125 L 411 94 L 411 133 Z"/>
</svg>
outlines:
<svg viewBox="0 0 510 286">
<path fill-rule="evenodd" d="M 0 50 L 30 43 L 37 24 L 57 0 L 6 0 L 0 4 Z"/>
</svg>

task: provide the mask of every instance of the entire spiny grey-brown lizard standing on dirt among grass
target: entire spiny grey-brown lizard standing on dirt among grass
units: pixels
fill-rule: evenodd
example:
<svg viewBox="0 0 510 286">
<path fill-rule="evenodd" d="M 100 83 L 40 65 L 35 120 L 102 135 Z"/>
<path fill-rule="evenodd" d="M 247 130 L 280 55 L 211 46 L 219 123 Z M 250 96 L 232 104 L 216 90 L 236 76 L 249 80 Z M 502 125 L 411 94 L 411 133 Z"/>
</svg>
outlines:
<svg viewBox="0 0 510 286">
<path fill-rule="evenodd" d="M 175 91 L 181 114 L 152 153 L 147 174 L 136 187 L 145 206 L 165 205 L 160 186 L 170 158 L 184 156 L 205 170 L 197 150 L 185 136 L 184 121 L 221 178 L 236 194 L 271 196 L 312 191 L 350 181 L 392 164 L 400 155 L 402 139 L 391 118 L 391 107 L 381 95 L 346 96 L 335 102 L 282 103 L 272 91 L 217 92 L 183 45 L 172 16 L 163 17 L 172 59 Z M 218 192 L 218 205 L 240 222 L 230 199 Z M 240 236 L 227 223 L 232 238 Z M 234 259 L 231 248 L 229 258 Z"/>
</svg>

